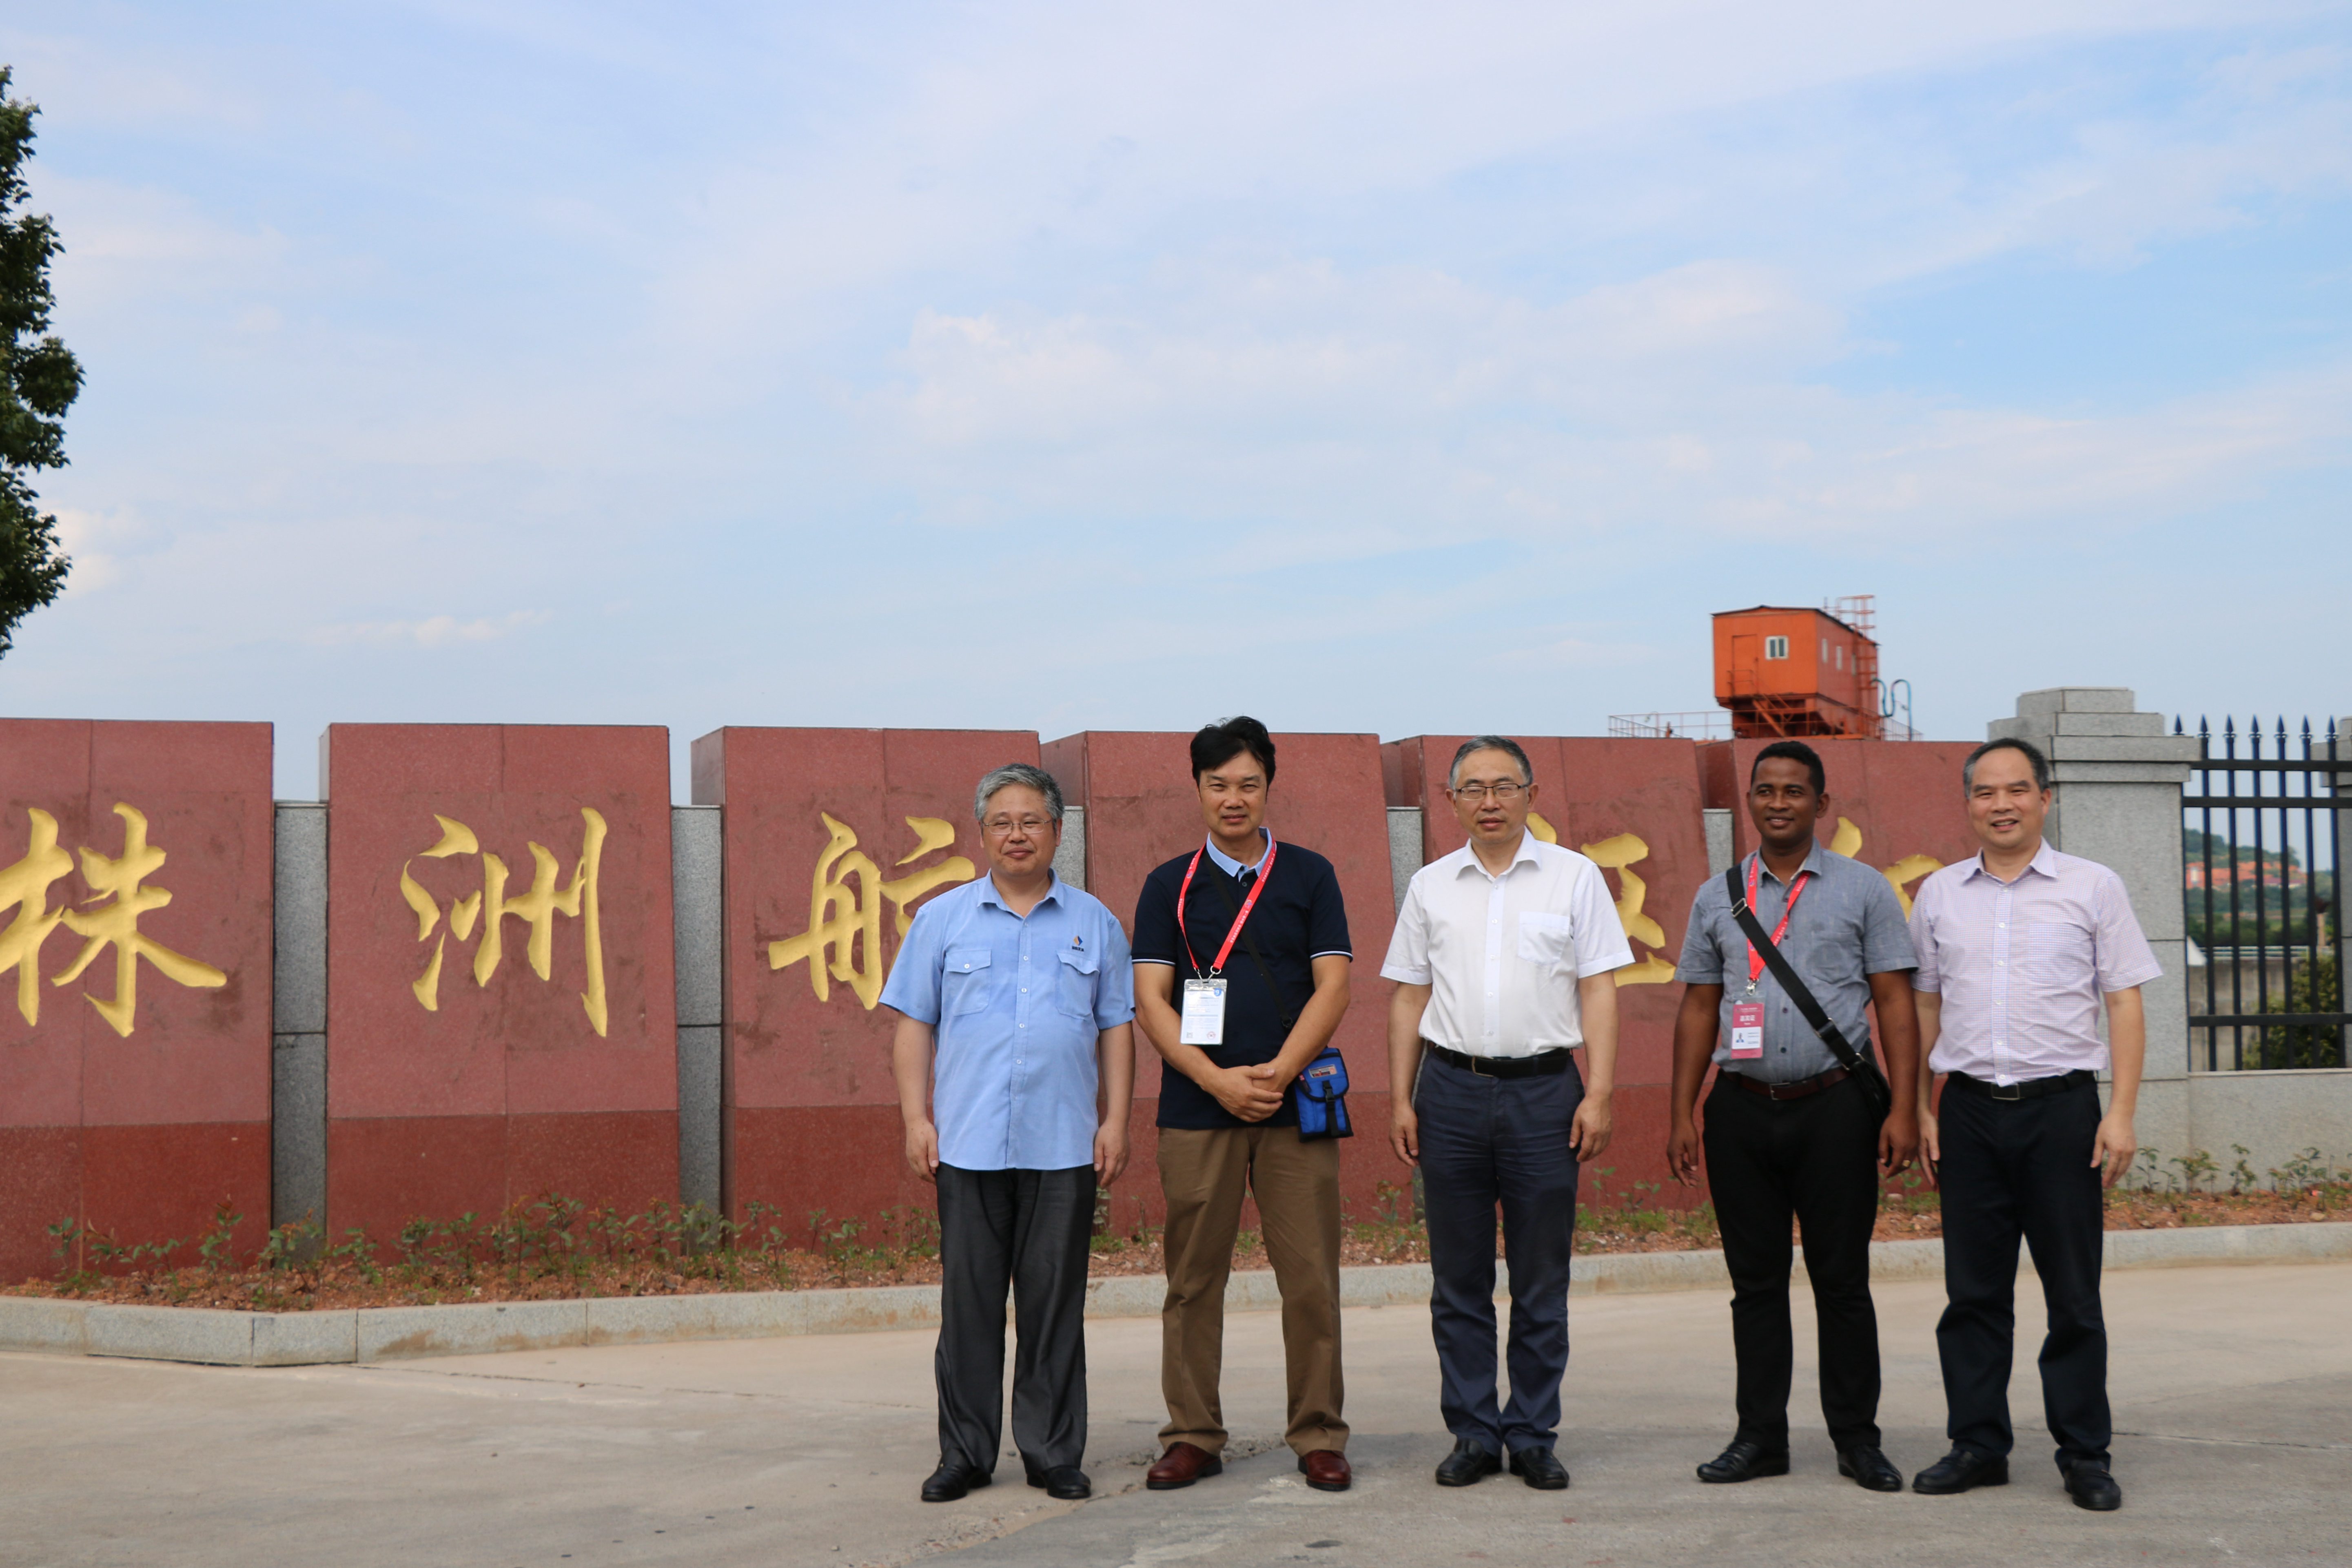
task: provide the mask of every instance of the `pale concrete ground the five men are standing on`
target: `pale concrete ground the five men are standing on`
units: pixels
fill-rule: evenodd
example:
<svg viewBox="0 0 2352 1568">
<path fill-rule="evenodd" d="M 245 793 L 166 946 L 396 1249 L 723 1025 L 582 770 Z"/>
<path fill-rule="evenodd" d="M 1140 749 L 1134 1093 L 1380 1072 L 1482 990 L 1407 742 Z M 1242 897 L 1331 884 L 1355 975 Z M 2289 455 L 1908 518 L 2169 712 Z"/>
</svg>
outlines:
<svg viewBox="0 0 2352 1568">
<path fill-rule="evenodd" d="M 1016 1455 L 964 1502 L 915 1500 L 936 1443 L 929 1333 L 278 1371 L 0 1354 L 0 1563 L 2347 1563 L 2347 1305 L 2352 1265 L 2110 1274 L 2126 1502 L 2103 1516 L 2058 1490 L 2032 1342 L 2002 1490 L 1863 1493 L 1818 1427 L 1785 1479 L 1698 1486 L 1691 1465 L 1729 1436 L 1715 1291 L 1576 1302 L 1569 1493 L 1430 1483 L 1449 1441 L 1414 1307 L 1348 1314 L 1345 1495 L 1301 1486 L 1275 1441 L 1282 1345 L 1263 1312 L 1228 1328 L 1228 1425 L 1251 1458 L 1141 1490 L 1157 1324 L 1089 1324 L 1087 1505 L 1021 1486 Z M 1943 1453 L 1938 1307 L 1933 1284 L 1879 1286 L 1882 1420 L 1905 1472 Z M 1818 1420 L 1809 1363 L 1799 1342 L 1799 1427 Z"/>
</svg>

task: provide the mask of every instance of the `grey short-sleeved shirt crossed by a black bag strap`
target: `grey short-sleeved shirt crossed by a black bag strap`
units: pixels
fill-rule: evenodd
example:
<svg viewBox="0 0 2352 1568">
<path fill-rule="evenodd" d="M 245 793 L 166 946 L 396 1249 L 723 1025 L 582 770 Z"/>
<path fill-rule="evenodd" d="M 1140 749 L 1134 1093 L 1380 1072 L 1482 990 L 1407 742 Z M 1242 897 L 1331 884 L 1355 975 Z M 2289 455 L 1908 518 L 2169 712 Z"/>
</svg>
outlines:
<svg viewBox="0 0 2352 1568">
<path fill-rule="evenodd" d="M 1740 877 L 1757 856 L 1740 863 Z M 1863 1058 L 1870 1046 L 1870 976 L 1917 966 L 1910 931 L 1903 926 L 1903 900 L 1882 872 L 1830 853 L 1820 844 L 1799 867 L 1804 886 L 1797 910 L 1780 936 L 1780 954 L 1804 978 L 1813 1001 L 1830 1016 Z M 1788 912 L 1788 886 L 1757 865 L 1755 912 L 1771 933 Z M 1684 985 L 1722 985 L 1724 999 L 1715 1020 L 1715 1063 L 1724 1072 L 1764 1084 L 1795 1084 L 1839 1067 L 1837 1053 L 1813 1034 L 1813 1027 L 1788 999 L 1771 969 L 1757 976 L 1748 994 L 1748 933 L 1731 914 L 1731 893 L 1722 877 L 1708 877 L 1691 900 L 1691 929 L 1682 938 L 1682 961 L 1675 978 Z M 1731 1009 L 1740 1001 L 1764 1006 L 1764 1056 L 1731 1058 Z"/>
</svg>

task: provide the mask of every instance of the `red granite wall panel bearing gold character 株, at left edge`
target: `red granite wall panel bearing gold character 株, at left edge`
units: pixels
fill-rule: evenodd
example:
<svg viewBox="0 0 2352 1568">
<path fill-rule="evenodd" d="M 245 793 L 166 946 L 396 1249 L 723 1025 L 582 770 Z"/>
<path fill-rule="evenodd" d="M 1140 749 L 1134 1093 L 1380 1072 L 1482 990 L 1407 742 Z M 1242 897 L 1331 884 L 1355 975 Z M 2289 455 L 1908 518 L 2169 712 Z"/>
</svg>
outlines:
<svg viewBox="0 0 2352 1568">
<path fill-rule="evenodd" d="M 193 1241 L 228 1204 L 259 1246 L 270 726 L 0 719 L 0 1279 L 56 1220 Z"/>
</svg>

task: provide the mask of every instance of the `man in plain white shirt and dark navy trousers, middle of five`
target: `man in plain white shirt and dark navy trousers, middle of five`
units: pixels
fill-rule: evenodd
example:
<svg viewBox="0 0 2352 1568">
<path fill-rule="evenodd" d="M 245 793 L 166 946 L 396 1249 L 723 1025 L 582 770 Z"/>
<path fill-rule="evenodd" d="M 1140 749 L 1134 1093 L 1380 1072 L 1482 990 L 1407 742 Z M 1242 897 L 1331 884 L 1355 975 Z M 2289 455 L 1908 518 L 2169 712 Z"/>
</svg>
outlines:
<svg viewBox="0 0 2352 1568">
<path fill-rule="evenodd" d="M 1397 980 L 1390 1143 L 1421 1166 L 1437 1408 L 1454 1434 L 1437 1483 L 1470 1486 L 1508 1455 L 1529 1486 L 1559 1490 L 1576 1166 L 1609 1147 L 1611 971 L 1632 950 L 1599 867 L 1526 832 L 1536 778 L 1515 741 L 1465 741 L 1446 795 L 1470 844 L 1414 875 L 1381 966 Z M 1508 1406 L 1496 1399 L 1496 1204 L 1510 1246 Z"/>
</svg>

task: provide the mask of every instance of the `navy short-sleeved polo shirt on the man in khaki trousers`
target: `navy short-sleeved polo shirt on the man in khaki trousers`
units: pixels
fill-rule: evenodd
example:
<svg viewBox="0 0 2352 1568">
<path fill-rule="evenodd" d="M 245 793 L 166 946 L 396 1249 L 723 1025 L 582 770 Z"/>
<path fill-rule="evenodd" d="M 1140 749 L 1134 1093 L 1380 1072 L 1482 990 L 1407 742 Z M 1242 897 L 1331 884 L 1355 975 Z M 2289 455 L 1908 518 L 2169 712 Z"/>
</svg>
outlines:
<svg viewBox="0 0 2352 1568">
<path fill-rule="evenodd" d="M 1192 851 L 1160 865 L 1143 879 L 1143 893 L 1136 898 L 1136 964 L 1171 966 L 1178 994 L 1183 994 L 1185 980 L 1209 976 L 1216 950 L 1225 943 L 1232 917 L 1247 898 L 1244 882 L 1202 853 L 1200 870 L 1192 872 L 1192 893 L 1183 905 L 1183 933 L 1178 933 L 1176 893 L 1188 865 L 1192 865 Z M 1256 938 L 1258 957 L 1265 961 L 1263 971 L 1249 954 L 1251 938 Z M 1284 839 L 1275 846 L 1265 891 L 1258 893 L 1242 938 L 1235 940 L 1225 969 L 1218 971 L 1225 980 L 1225 1044 L 1202 1046 L 1209 1060 L 1218 1067 L 1254 1067 L 1282 1056 L 1282 1041 L 1289 1037 L 1282 1020 L 1298 1020 L 1308 997 L 1315 994 L 1312 961 L 1327 954 L 1355 957 L 1348 943 L 1348 905 L 1338 893 L 1338 872 L 1312 849 Z M 1272 978 L 1272 990 L 1268 978 Z M 1282 1110 L 1265 1121 L 1242 1121 L 1185 1074 L 1174 1070 L 1160 1074 L 1160 1126 L 1296 1124 L 1296 1086 L 1282 1095 Z"/>
</svg>

